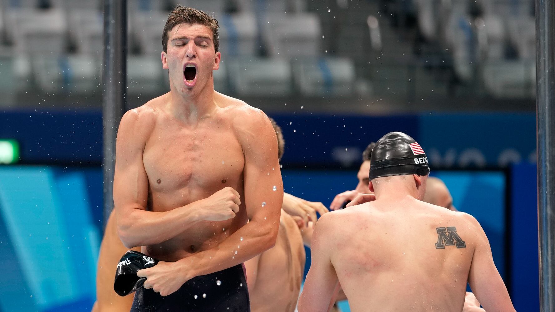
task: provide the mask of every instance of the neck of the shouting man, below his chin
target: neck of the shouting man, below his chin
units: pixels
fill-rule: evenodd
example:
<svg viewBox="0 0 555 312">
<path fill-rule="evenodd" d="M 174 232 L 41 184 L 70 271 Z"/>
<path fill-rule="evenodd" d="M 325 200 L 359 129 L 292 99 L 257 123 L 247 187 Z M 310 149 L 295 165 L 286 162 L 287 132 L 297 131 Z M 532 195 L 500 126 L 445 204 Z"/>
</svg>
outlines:
<svg viewBox="0 0 555 312">
<path fill-rule="evenodd" d="M 196 123 L 200 119 L 208 117 L 218 108 L 215 94 L 213 80 L 209 80 L 201 92 L 196 95 L 184 95 L 175 88 L 171 88 L 168 109 L 175 118 L 185 123 Z"/>
</svg>

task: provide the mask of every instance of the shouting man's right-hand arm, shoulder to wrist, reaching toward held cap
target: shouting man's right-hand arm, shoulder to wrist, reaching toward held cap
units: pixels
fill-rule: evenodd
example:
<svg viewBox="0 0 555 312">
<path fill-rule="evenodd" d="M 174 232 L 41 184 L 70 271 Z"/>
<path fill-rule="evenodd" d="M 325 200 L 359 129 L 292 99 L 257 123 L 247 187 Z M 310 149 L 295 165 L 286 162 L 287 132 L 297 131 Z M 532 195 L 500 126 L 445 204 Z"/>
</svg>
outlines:
<svg viewBox="0 0 555 312">
<path fill-rule="evenodd" d="M 272 248 L 278 236 L 283 201 L 278 138 L 268 117 L 259 110 L 237 124 L 245 155 L 245 196 L 241 201 L 250 222 L 214 248 L 176 262 L 185 281 L 241 264 Z"/>
</svg>

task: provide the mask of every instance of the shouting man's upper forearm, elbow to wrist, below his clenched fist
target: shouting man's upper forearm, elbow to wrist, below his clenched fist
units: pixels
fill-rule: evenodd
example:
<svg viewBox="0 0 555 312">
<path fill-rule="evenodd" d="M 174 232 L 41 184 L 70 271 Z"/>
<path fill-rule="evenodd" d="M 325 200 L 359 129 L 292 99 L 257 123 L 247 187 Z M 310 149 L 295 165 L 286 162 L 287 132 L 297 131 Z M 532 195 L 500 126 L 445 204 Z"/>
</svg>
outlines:
<svg viewBox="0 0 555 312">
<path fill-rule="evenodd" d="M 127 248 L 160 244 L 200 221 L 197 202 L 167 212 L 134 209 L 118 222 L 118 235 Z"/>
</svg>

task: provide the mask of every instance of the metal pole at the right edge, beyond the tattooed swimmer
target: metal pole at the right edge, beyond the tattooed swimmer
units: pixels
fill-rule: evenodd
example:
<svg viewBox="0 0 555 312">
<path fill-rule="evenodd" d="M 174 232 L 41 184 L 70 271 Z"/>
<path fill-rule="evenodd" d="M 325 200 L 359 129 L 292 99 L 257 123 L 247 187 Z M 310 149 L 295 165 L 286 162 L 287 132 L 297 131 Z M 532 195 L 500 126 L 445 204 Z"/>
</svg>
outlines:
<svg viewBox="0 0 555 312">
<path fill-rule="evenodd" d="M 555 311 L 555 0 L 536 0 L 539 299 Z"/>
</svg>

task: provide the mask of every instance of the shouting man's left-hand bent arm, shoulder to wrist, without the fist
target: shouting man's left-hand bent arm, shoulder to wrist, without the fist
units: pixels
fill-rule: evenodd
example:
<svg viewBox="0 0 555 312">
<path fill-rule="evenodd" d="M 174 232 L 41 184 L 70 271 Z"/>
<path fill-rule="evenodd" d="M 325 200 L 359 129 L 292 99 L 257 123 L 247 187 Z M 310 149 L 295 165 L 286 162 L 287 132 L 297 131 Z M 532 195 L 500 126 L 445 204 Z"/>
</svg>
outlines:
<svg viewBox="0 0 555 312">
<path fill-rule="evenodd" d="M 122 118 L 116 142 L 114 204 L 118 234 L 127 248 L 158 244 L 198 222 L 197 209 L 186 205 L 168 212 L 147 211 L 148 177 L 143 152 L 154 127 L 154 112 L 129 110 Z"/>
</svg>

